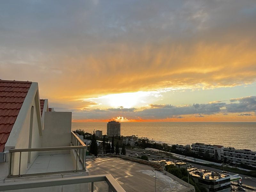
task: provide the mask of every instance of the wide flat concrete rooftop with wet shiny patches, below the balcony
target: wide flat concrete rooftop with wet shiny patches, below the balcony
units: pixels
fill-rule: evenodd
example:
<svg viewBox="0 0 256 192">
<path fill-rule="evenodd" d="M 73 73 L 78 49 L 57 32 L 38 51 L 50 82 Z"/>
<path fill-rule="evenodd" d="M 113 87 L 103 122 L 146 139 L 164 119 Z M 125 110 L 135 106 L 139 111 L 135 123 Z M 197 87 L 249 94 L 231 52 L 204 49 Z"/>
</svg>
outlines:
<svg viewBox="0 0 256 192">
<path fill-rule="evenodd" d="M 126 192 L 154 192 L 155 191 L 155 173 L 151 166 L 139 164 L 131 161 L 119 159 L 117 157 L 97 158 L 87 161 L 89 175 L 110 173 Z M 176 180 L 164 175 L 162 172 L 156 172 L 156 191 L 175 192 L 186 186 Z M 95 191 L 107 191 L 107 185 L 104 182 L 94 183 Z"/>
</svg>

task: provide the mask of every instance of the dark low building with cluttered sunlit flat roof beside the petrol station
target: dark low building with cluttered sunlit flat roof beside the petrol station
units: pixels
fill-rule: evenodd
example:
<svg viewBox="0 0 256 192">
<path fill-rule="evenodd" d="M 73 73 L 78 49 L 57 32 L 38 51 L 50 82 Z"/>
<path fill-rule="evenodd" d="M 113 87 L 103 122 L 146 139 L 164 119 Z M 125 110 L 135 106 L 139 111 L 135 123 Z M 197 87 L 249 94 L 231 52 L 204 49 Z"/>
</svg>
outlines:
<svg viewBox="0 0 256 192">
<path fill-rule="evenodd" d="M 188 168 L 189 175 L 204 187 L 207 192 L 229 192 L 231 190 L 230 176 L 204 169 Z"/>
</svg>

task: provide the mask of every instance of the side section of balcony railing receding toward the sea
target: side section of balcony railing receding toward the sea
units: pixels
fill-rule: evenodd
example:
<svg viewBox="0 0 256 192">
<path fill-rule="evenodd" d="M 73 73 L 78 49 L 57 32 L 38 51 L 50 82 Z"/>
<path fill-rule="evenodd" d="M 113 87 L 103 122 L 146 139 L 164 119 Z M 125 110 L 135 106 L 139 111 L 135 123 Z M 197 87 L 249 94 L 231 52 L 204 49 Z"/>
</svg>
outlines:
<svg viewBox="0 0 256 192">
<path fill-rule="evenodd" d="M 79 157 L 79 160 L 83 164 L 83 169 L 86 169 L 86 150 L 87 146 L 84 144 L 84 142 L 77 137 L 77 135 L 72 131 L 71 132 L 71 144 L 73 146 L 83 146 L 85 148 L 83 149 L 76 149 L 76 156 Z"/>
</svg>

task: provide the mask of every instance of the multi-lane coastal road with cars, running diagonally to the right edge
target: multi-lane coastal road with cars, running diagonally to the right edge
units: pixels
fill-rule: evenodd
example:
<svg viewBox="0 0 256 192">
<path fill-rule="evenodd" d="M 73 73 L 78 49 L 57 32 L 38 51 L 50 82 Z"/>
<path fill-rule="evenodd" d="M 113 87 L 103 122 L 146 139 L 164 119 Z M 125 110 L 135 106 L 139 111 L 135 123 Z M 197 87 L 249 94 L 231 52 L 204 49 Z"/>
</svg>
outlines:
<svg viewBox="0 0 256 192">
<path fill-rule="evenodd" d="M 133 152 L 133 154 L 130 153 L 131 151 Z M 152 158 L 157 160 L 157 156 L 159 156 L 159 155 L 155 155 L 155 154 L 148 153 L 148 152 L 146 152 L 146 154 L 140 154 L 141 153 L 140 151 L 136 151 L 136 150 L 133 150 L 133 149 L 132 150 L 131 149 L 126 149 L 126 155 L 135 156 L 135 153 L 137 153 L 139 156 L 142 156 L 142 155 L 147 155 L 148 156 L 148 154 L 150 154 L 150 156 L 148 156 L 148 160 L 151 160 L 151 161 L 152 161 Z M 170 161 L 177 161 L 177 159 L 172 159 L 172 158 L 169 158 L 169 157 L 164 157 L 164 159 L 165 160 L 169 159 Z M 188 162 L 188 164 L 192 164 L 194 167 L 207 169 L 209 171 L 214 171 L 214 172 L 222 172 L 223 171 L 223 170 L 220 170 L 220 169 L 215 169 L 215 168 L 212 168 L 212 167 L 202 166 L 202 165 L 198 165 L 198 164 L 195 164 L 195 163 Z M 239 174 L 239 173 L 228 172 L 228 174 L 236 175 L 236 174 Z M 242 175 L 242 174 L 239 174 L 239 176 L 241 176 L 243 178 L 242 179 L 242 184 L 249 185 L 249 186 L 252 186 L 252 187 L 256 187 L 256 178 L 255 177 Z M 244 179 L 245 177 L 251 177 L 252 180 Z"/>
</svg>

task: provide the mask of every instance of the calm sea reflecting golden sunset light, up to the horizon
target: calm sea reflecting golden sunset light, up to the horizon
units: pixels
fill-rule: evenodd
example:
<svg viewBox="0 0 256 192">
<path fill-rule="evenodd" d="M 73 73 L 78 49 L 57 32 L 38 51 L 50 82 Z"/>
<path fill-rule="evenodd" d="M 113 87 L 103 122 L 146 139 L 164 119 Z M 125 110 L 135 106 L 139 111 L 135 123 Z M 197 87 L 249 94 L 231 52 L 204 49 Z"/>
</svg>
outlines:
<svg viewBox="0 0 256 192">
<path fill-rule="evenodd" d="M 85 132 L 102 130 L 106 134 L 107 123 L 72 123 L 72 130 L 76 129 Z M 138 135 L 167 144 L 200 142 L 256 151 L 256 123 L 122 122 L 121 134 Z"/>
</svg>

